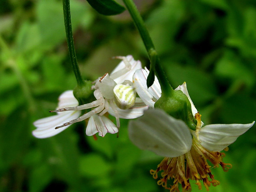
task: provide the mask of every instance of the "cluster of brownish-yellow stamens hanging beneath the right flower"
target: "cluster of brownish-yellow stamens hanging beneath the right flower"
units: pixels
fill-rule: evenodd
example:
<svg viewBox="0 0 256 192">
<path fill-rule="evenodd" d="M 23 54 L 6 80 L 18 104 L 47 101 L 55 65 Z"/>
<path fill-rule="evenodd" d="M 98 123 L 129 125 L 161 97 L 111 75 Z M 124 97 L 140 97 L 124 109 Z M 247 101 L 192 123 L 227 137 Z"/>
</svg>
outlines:
<svg viewBox="0 0 256 192">
<path fill-rule="evenodd" d="M 189 152 L 179 157 L 165 157 L 156 170 L 150 170 L 150 174 L 158 180 L 158 185 L 170 192 L 180 192 L 180 185 L 182 191 L 191 191 L 190 180 L 195 180 L 198 189 L 202 189 L 203 184 L 209 191 L 209 186 L 220 184 L 212 175 L 211 168 L 221 166 L 224 172 L 232 168 L 230 163 L 222 161 L 224 156 L 224 153 L 203 148 L 198 140 L 193 138 Z M 158 178 L 159 175 L 161 175 L 160 178 Z"/>
</svg>

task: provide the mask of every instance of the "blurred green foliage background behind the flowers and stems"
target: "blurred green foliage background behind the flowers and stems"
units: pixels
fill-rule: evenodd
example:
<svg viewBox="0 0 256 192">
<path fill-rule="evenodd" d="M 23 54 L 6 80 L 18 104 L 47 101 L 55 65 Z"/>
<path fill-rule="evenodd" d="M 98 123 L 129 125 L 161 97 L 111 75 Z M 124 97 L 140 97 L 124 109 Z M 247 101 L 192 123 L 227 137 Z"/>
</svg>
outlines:
<svg viewBox="0 0 256 192">
<path fill-rule="evenodd" d="M 205 124 L 256 120 L 255 0 L 135 2 L 172 86 L 186 81 Z M 76 86 L 62 12 L 61 0 L 0 1 L 0 191 L 168 191 L 149 174 L 163 157 L 132 145 L 127 120 L 118 139 L 87 137 L 85 122 L 52 138 L 32 136 L 32 122 L 52 115 L 58 96 Z M 111 72 L 116 55 L 148 66 L 127 12 L 106 17 L 85 0 L 71 0 L 71 15 L 84 79 Z M 221 185 L 210 191 L 254 191 L 255 161 L 256 126 L 230 145 L 229 172 L 212 169 Z"/>
</svg>

